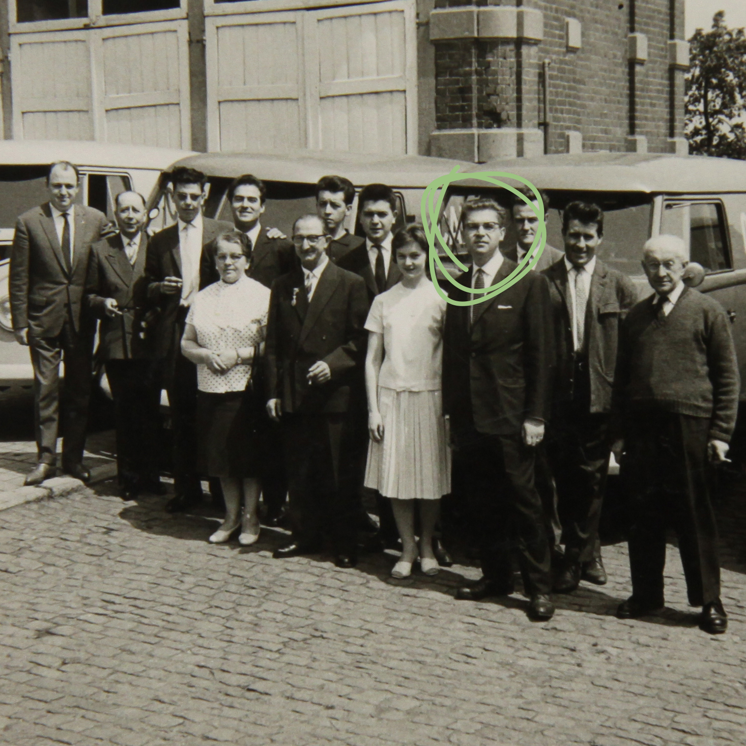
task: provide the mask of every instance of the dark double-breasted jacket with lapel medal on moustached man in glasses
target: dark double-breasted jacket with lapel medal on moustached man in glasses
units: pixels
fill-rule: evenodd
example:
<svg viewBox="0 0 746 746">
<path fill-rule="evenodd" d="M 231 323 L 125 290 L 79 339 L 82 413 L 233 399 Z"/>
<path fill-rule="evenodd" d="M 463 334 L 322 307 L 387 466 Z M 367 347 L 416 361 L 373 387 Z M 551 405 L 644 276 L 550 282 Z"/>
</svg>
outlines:
<svg viewBox="0 0 746 746">
<path fill-rule="evenodd" d="M 344 413 L 360 376 L 366 350 L 366 286 L 357 275 L 328 262 L 310 303 L 303 272 L 283 275 L 272 286 L 266 339 L 269 398 L 284 412 Z M 306 374 L 318 360 L 331 380 L 311 386 Z"/>
</svg>

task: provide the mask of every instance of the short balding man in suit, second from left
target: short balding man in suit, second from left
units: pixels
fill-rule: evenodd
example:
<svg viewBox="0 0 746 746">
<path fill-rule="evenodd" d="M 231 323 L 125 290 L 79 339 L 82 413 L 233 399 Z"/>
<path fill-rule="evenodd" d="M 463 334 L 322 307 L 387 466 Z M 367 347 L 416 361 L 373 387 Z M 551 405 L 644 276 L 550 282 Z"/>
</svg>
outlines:
<svg viewBox="0 0 746 746">
<path fill-rule="evenodd" d="M 119 233 L 91 249 L 86 300 L 101 319 L 96 355 L 104 360 L 114 401 L 119 486 L 122 497 L 134 500 L 140 492 L 165 494 L 157 460 L 160 387 L 140 327 L 148 295 L 145 198 L 116 195 L 115 217 Z"/>
</svg>

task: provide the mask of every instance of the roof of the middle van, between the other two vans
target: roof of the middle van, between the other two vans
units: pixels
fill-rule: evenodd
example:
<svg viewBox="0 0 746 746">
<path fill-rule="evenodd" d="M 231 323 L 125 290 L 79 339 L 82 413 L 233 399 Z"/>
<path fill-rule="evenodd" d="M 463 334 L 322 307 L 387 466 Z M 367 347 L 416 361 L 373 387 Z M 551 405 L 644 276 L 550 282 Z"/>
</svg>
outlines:
<svg viewBox="0 0 746 746">
<path fill-rule="evenodd" d="M 424 187 L 451 169 L 466 170 L 473 163 L 424 155 L 386 157 L 375 154 L 296 150 L 282 153 L 202 153 L 184 158 L 174 166 L 189 166 L 208 176 L 236 178 L 251 173 L 265 181 L 316 184 L 322 176 L 338 174 L 355 186 L 383 183 L 400 187 Z"/>
</svg>

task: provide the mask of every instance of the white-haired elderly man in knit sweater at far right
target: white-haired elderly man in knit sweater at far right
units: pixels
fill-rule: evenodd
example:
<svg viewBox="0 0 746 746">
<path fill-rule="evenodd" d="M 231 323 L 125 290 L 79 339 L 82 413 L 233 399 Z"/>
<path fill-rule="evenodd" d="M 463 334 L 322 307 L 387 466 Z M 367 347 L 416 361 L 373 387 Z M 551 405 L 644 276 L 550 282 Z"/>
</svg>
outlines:
<svg viewBox="0 0 746 746">
<path fill-rule="evenodd" d="M 689 250 L 678 236 L 645 244 L 655 291 L 621 328 L 612 410 L 614 454 L 627 474 L 632 595 L 623 619 L 662 609 L 666 528 L 677 533 L 689 604 L 700 627 L 723 633 L 718 526 L 711 464 L 727 461 L 739 404 L 739 369 L 723 307 L 683 283 Z"/>
</svg>

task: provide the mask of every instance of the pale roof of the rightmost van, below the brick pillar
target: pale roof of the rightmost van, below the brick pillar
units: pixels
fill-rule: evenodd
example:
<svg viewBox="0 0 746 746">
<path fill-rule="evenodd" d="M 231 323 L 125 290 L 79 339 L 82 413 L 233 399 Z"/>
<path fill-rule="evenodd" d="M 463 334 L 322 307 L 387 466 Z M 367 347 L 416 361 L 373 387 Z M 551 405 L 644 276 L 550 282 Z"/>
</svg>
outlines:
<svg viewBox="0 0 746 746">
<path fill-rule="evenodd" d="M 704 155 L 582 153 L 471 163 L 471 172 L 503 171 L 542 189 L 601 192 L 746 192 L 746 162 Z M 458 184 L 485 186 L 483 181 Z"/>
</svg>

